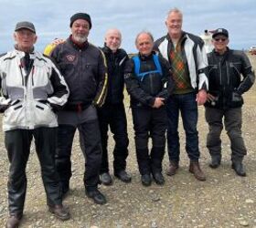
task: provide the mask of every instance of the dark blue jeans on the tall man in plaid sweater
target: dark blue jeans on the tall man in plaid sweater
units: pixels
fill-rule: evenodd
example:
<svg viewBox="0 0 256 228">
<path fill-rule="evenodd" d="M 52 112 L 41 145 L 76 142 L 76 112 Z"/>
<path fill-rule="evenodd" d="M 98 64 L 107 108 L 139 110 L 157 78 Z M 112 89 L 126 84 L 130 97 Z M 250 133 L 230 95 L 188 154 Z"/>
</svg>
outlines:
<svg viewBox="0 0 256 228">
<path fill-rule="evenodd" d="M 167 145 L 169 161 L 178 164 L 180 154 L 180 143 L 178 133 L 179 111 L 186 133 L 186 150 L 190 161 L 198 161 L 198 131 L 197 131 L 197 94 L 174 94 L 166 104 L 167 110 Z"/>
</svg>

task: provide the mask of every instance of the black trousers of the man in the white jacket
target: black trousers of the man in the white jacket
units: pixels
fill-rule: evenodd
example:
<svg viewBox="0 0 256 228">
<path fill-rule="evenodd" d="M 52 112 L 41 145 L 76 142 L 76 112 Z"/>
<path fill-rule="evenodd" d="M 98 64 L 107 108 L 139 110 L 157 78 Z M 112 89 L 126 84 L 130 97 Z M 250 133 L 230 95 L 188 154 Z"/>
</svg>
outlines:
<svg viewBox="0 0 256 228">
<path fill-rule="evenodd" d="M 8 202 L 11 215 L 20 217 L 23 214 L 27 191 L 26 166 L 33 137 L 48 205 L 61 204 L 59 175 L 54 163 L 56 136 L 56 128 L 9 130 L 5 132 L 5 147 L 10 161 Z"/>
</svg>

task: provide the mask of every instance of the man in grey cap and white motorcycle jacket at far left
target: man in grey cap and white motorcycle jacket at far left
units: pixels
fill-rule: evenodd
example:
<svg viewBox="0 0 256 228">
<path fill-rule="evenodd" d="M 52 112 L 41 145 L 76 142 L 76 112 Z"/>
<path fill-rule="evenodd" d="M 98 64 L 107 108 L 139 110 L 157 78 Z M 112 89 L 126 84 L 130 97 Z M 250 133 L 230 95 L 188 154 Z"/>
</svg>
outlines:
<svg viewBox="0 0 256 228">
<path fill-rule="evenodd" d="M 48 210 L 68 220 L 62 205 L 59 176 L 54 163 L 58 121 L 55 111 L 69 97 L 69 88 L 58 68 L 34 50 L 35 26 L 16 24 L 15 49 L 0 57 L 0 109 L 4 112 L 5 148 L 10 161 L 8 178 L 9 218 L 6 227 L 18 227 L 27 191 L 26 166 L 34 138 Z"/>
</svg>

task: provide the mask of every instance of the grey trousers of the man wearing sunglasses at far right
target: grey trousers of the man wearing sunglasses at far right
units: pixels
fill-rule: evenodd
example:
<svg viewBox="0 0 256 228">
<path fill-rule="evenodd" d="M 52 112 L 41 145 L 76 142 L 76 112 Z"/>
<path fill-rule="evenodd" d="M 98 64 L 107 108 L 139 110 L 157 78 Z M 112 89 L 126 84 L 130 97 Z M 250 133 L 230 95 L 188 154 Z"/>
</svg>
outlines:
<svg viewBox="0 0 256 228">
<path fill-rule="evenodd" d="M 206 107 L 206 120 L 208 122 L 207 148 L 211 156 L 221 157 L 220 134 L 223 129 L 229 136 L 231 148 L 231 160 L 241 161 L 247 151 L 241 136 L 241 108 L 213 109 Z"/>
</svg>

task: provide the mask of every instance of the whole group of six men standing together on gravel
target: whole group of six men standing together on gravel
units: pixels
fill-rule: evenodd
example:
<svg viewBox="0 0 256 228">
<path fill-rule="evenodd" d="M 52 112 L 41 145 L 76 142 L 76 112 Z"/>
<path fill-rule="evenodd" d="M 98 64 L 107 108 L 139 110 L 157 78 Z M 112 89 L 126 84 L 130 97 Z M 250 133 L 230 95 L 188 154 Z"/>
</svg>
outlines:
<svg viewBox="0 0 256 228">
<path fill-rule="evenodd" d="M 197 180 L 206 180 L 199 165 L 197 132 L 197 106 L 204 104 L 210 167 L 217 168 L 221 161 L 219 137 L 224 117 L 231 141 L 232 168 L 238 175 L 246 175 L 242 164 L 246 148 L 240 130 L 241 95 L 254 82 L 250 61 L 242 52 L 227 47 L 229 33 L 223 28 L 213 34 L 215 48 L 207 56 L 203 41 L 183 31 L 182 22 L 181 11 L 170 10 L 165 20 L 167 35 L 154 42 L 149 32 L 139 33 L 135 39 L 139 53 L 129 59 L 120 48 L 122 35 L 118 29 L 107 31 L 104 47 L 91 45 L 91 17 L 78 13 L 70 17 L 69 38 L 48 53 L 52 60 L 34 50 L 35 26 L 17 23 L 16 48 L 0 57 L 0 108 L 5 113 L 3 128 L 10 161 L 10 216 L 6 227 L 18 227 L 23 215 L 25 170 L 33 137 L 48 210 L 61 220 L 69 219 L 62 200 L 69 192 L 76 130 L 85 157 L 83 181 L 89 198 L 105 203 L 98 184 L 112 184 L 107 150 L 109 127 L 115 140 L 113 174 L 123 182 L 132 180 L 126 171 L 129 140 L 124 83 L 131 96 L 136 158 L 144 186 L 149 186 L 152 178 L 156 184 L 165 183 L 162 161 L 166 130 L 170 161 L 166 174 L 174 175 L 178 170 L 179 114 L 186 133 L 189 171 Z"/>
</svg>

